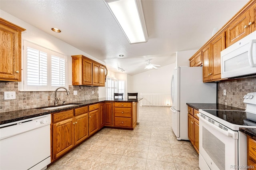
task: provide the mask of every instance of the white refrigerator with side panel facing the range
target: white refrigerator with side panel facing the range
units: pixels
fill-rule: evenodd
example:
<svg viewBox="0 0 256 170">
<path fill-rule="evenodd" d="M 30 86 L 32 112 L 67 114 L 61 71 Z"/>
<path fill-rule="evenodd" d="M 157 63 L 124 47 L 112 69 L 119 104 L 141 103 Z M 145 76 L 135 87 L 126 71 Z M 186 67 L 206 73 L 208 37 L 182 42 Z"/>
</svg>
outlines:
<svg viewBox="0 0 256 170">
<path fill-rule="evenodd" d="M 188 105 L 216 103 L 216 83 L 203 83 L 202 67 L 176 67 L 172 75 L 172 130 L 178 140 L 188 140 Z"/>
</svg>

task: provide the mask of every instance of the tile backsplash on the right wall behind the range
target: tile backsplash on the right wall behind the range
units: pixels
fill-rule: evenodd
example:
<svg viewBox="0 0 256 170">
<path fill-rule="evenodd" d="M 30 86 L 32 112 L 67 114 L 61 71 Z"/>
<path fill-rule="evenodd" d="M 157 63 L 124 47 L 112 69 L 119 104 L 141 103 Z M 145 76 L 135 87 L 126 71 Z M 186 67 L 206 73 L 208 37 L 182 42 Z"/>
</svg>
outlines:
<svg viewBox="0 0 256 170">
<path fill-rule="evenodd" d="M 226 96 L 223 95 L 224 89 L 226 89 Z M 256 92 L 256 78 L 220 81 L 217 92 L 218 103 L 246 109 L 243 97 L 250 92 Z"/>
</svg>

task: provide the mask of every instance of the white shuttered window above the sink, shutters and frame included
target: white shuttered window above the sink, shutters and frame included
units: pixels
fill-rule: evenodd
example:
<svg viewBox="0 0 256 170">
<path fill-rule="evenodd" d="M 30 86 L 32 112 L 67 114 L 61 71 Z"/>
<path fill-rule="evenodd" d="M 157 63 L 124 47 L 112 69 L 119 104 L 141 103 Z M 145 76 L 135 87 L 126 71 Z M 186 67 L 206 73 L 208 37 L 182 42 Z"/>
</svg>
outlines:
<svg viewBox="0 0 256 170">
<path fill-rule="evenodd" d="M 25 40 L 23 44 L 20 90 L 54 91 L 60 86 L 68 88 L 67 56 Z"/>
</svg>

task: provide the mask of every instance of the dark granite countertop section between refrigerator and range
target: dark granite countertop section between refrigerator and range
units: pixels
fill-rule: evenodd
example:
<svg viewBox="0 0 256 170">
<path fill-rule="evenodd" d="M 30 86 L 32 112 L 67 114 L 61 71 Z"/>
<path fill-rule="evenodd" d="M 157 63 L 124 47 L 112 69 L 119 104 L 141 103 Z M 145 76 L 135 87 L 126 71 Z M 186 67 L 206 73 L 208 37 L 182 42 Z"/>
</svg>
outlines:
<svg viewBox="0 0 256 170">
<path fill-rule="evenodd" d="M 217 109 L 217 110 L 237 110 L 244 111 L 244 109 L 240 109 L 237 107 L 217 104 L 217 103 L 187 103 L 188 106 L 199 110 L 199 109 Z"/>
</svg>

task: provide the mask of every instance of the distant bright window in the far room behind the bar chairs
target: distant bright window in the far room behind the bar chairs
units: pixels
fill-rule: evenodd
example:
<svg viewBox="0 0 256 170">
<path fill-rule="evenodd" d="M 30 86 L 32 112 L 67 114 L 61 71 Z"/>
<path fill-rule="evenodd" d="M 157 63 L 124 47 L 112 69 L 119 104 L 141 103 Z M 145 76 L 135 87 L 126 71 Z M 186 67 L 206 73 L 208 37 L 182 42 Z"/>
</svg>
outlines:
<svg viewBox="0 0 256 170">
<path fill-rule="evenodd" d="M 106 80 L 106 97 L 108 99 L 114 98 L 114 93 L 125 93 L 124 80 L 116 80 L 107 78 Z"/>
</svg>

